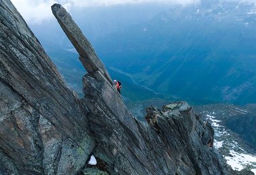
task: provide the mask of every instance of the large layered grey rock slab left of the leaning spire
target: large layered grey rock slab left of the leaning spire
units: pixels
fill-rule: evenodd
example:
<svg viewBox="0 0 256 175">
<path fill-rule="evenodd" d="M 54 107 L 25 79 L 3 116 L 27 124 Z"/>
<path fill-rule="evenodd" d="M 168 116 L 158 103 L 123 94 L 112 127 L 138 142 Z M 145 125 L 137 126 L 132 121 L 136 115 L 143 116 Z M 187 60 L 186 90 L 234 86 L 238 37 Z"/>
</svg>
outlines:
<svg viewBox="0 0 256 175">
<path fill-rule="evenodd" d="M 0 24 L 0 174 L 77 172 L 95 146 L 88 109 L 9 0 Z"/>
</svg>

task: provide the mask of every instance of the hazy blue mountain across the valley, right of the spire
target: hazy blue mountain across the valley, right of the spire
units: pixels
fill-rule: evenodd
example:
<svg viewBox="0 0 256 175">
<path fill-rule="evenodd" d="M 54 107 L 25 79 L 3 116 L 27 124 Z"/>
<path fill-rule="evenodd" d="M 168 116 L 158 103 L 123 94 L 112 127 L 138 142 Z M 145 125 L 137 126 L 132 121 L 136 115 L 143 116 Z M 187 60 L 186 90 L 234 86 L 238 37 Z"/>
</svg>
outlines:
<svg viewBox="0 0 256 175">
<path fill-rule="evenodd" d="M 156 92 L 199 104 L 254 103 L 255 22 L 251 3 L 202 1 L 102 37 L 95 46 L 106 65 Z"/>
</svg>

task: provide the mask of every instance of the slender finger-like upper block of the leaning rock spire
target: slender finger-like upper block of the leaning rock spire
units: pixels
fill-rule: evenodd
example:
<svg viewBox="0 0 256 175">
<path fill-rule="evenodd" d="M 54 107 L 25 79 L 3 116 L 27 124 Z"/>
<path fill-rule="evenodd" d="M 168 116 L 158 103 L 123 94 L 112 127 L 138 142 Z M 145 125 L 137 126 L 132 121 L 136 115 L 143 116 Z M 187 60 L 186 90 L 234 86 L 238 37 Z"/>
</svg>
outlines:
<svg viewBox="0 0 256 175">
<path fill-rule="evenodd" d="M 86 71 L 88 71 L 88 73 L 100 71 L 112 85 L 113 81 L 108 75 L 108 71 L 106 71 L 105 66 L 96 55 L 94 48 L 92 48 L 92 45 L 87 40 L 86 36 L 84 36 L 77 24 L 72 20 L 71 15 L 57 3 L 52 6 L 52 11 L 61 28 L 77 50 L 79 59 L 84 65 L 84 68 L 86 68 Z"/>
</svg>

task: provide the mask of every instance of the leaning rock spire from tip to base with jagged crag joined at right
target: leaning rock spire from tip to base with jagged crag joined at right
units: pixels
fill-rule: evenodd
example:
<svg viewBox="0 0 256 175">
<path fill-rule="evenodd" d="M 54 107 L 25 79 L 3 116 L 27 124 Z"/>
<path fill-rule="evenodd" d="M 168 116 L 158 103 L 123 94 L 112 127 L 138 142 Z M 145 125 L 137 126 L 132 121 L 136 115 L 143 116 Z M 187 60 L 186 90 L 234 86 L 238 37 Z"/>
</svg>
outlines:
<svg viewBox="0 0 256 175">
<path fill-rule="evenodd" d="M 92 48 L 90 42 L 77 46 L 77 41 L 72 41 L 83 35 L 67 11 L 57 4 L 52 9 L 77 52 L 83 50 L 84 55 L 96 57 L 94 50 L 87 49 Z M 83 64 L 91 67 L 98 61 L 96 57 Z M 170 104 L 162 111 L 152 106 L 148 108 L 149 125 L 139 122 L 100 65 L 83 77 L 82 102 L 90 110 L 87 117 L 98 143 L 94 153 L 104 162 L 104 169 L 110 174 L 224 174 L 220 158 L 211 147 L 212 127 L 203 126 L 186 102 Z"/>
</svg>

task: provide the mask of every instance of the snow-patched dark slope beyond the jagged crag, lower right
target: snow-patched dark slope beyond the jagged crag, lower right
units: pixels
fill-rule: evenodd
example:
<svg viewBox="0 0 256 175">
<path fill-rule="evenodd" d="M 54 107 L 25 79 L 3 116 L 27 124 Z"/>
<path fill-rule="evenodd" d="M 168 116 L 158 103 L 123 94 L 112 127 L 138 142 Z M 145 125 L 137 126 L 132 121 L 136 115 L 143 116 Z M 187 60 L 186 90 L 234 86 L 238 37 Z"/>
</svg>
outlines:
<svg viewBox="0 0 256 175">
<path fill-rule="evenodd" d="M 215 148 L 233 170 L 248 168 L 256 173 L 255 104 L 207 104 L 196 106 L 195 111 L 212 124 Z"/>
</svg>

